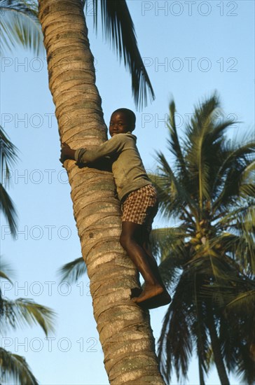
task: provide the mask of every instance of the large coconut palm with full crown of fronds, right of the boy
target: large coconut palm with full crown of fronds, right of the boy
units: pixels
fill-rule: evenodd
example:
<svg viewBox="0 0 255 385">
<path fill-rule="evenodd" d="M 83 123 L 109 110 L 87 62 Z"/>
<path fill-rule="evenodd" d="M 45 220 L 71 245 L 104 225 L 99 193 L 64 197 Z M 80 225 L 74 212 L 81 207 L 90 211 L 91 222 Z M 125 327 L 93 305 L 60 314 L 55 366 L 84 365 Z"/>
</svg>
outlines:
<svg viewBox="0 0 255 385">
<path fill-rule="evenodd" d="M 172 288 L 159 358 L 165 378 L 172 368 L 186 377 L 193 349 L 200 384 L 215 363 L 221 384 L 227 370 L 255 380 L 254 148 L 250 140 L 228 140 L 229 120 L 219 120 L 214 94 L 195 108 L 182 140 L 170 104 L 167 143 L 171 166 L 158 153 L 160 211 L 175 225 L 153 230 L 160 271 Z"/>
</svg>

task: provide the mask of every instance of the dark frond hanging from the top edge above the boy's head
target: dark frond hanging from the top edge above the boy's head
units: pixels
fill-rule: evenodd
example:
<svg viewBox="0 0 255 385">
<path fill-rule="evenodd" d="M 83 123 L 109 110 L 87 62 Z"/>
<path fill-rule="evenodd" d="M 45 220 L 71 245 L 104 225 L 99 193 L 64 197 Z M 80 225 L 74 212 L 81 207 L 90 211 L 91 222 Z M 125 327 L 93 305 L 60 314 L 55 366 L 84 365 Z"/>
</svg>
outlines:
<svg viewBox="0 0 255 385">
<path fill-rule="evenodd" d="M 97 27 L 97 0 L 93 0 L 95 27 Z M 136 106 L 147 105 L 147 93 L 155 99 L 151 81 L 137 47 L 135 27 L 125 0 L 101 0 L 102 25 L 106 38 L 111 42 L 120 60 L 132 76 L 132 93 Z"/>
</svg>

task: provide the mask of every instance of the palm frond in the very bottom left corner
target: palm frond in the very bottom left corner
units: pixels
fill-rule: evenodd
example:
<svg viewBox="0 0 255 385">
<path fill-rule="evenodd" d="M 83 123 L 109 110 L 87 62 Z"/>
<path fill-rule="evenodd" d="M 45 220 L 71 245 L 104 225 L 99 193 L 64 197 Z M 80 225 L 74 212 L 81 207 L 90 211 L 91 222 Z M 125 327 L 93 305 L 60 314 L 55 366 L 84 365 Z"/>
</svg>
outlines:
<svg viewBox="0 0 255 385">
<path fill-rule="evenodd" d="M 39 385 L 24 357 L 0 348 L 0 381 L 8 384 Z"/>
</svg>

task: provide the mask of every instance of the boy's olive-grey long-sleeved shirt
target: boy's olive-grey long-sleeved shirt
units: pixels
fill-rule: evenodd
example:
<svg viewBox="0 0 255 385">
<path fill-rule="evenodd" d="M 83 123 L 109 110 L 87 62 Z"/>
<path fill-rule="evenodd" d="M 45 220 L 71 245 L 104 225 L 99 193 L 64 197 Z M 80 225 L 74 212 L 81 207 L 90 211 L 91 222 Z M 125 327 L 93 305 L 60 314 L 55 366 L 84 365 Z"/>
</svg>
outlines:
<svg viewBox="0 0 255 385">
<path fill-rule="evenodd" d="M 119 200 L 138 188 L 151 184 L 136 146 L 137 137 L 127 132 L 115 134 L 93 150 L 79 148 L 75 159 L 79 163 L 92 163 L 109 156 Z"/>
</svg>

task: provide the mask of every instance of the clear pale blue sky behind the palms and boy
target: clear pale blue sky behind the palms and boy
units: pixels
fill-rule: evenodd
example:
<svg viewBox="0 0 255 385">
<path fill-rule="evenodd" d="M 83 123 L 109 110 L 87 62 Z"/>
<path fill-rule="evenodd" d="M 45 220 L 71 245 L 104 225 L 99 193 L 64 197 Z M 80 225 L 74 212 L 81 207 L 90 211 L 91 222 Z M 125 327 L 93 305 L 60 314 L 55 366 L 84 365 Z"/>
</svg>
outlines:
<svg viewBox="0 0 255 385">
<path fill-rule="evenodd" d="M 254 1 L 128 1 L 137 40 L 156 100 L 137 111 L 137 144 L 146 169 L 156 171 L 156 151 L 167 154 L 168 106 L 174 98 L 179 130 L 194 104 L 215 90 L 223 117 L 236 123 L 230 137 L 254 127 Z M 118 107 L 135 111 L 130 75 L 109 44 L 87 22 L 95 56 L 97 87 L 106 124 Z M 21 48 L 1 58 L 1 125 L 20 150 L 12 169 L 10 194 L 18 209 L 18 239 L 1 216 L 1 255 L 15 270 L 7 297 L 34 298 L 57 311 L 56 332 L 46 340 L 37 327 L 7 332 L 1 344 L 25 356 L 43 385 L 108 384 L 88 277 L 60 284 L 57 269 L 81 256 L 70 187 L 62 169 L 46 57 Z M 168 155 L 167 155 L 168 156 Z M 154 226 L 167 225 L 158 215 Z M 151 311 L 154 336 L 160 335 L 166 308 Z M 177 384 L 175 377 L 172 384 Z M 198 384 L 194 358 L 186 384 Z M 207 384 L 219 384 L 213 370 Z M 231 384 L 240 384 L 237 378 Z"/>
</svg>

